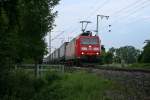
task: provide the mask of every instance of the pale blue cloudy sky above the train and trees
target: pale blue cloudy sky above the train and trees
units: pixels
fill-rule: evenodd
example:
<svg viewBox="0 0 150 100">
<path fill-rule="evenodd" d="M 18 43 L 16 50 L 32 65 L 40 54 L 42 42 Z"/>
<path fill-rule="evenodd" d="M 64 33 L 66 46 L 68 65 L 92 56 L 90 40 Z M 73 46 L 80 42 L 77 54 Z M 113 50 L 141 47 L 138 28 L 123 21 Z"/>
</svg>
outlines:
<svg viewBox="0 0 150 100">
<path fill-rule="evenodd" d="M 99 37 L 107 50 L 126 45 L 142 49 L 150 39 L 150 0 L 61 0 L 54 11 L 58 15 L 51 32 L 52 51 L 81 33 L 82 20 L 92 22 L 87 30 L 95 34 L 97 15 L 109 16 L 99 19 Z"/>
</svg>

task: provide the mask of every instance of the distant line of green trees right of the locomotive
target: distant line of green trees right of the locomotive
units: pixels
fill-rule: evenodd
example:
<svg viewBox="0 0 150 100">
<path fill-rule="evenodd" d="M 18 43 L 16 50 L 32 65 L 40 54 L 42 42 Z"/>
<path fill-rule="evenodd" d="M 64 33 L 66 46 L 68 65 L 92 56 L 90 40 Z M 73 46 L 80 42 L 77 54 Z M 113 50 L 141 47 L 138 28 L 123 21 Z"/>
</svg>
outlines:
<svg viewBox="0 0 150 100">
<path fill-rule="evenodd" d="M 120 48 L 110 48 L 107 52 L 102 47 L 101 63 L 150 63 L 150 40 L 145 40 L 143 50 L 138 50 L 133 46 Z"/>
</svg>

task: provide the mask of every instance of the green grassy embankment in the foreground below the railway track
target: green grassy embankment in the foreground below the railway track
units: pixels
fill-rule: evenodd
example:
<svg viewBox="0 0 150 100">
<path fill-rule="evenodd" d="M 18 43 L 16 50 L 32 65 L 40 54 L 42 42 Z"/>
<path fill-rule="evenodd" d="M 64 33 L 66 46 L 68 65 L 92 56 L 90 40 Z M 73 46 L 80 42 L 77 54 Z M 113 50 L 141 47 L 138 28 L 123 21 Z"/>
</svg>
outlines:
<svg viewBox="0 0 150 100">
<path fill-rule="evenodd" d="M 110 91 L 129 93 L 103 77 L 86 72 L 49 72 L 35 78 L 23 71 L 0 75 L 0 100 L 111 100 Z"/>
</svg>

